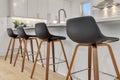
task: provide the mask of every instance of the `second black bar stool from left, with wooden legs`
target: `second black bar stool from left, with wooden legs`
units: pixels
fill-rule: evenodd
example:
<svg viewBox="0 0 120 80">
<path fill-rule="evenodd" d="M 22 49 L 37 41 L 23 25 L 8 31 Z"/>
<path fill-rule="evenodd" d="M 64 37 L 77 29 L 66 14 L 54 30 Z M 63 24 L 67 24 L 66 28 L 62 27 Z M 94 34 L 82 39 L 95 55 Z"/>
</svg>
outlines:
<svg viewBox="0 0 120 80">
<path fill-rule="evenodd" d="M 17 52 L 17 55 L 16 55 L 14 66 L 16 65 L 16 61 L 17 61 L 17 58 L 18 58 L 19 50 L 20 50 L 20 47 L 21 47 L 22 42 L 23 42 L 24 43 L 24 52 L 23 52 L 23 61 L 22 61 L 22 69 L 21 69 L 21 72 L 23 72 L 24 64 L 25 64 L 25 56 L 26 56 L 26 53 L 28 54 L 28 51 L 27 51 L 27 41 L 30 40 L 33 62 L 34 62 L 33 40 L 36 41 L 37 48 L 38 48 L 38 41 L 37 41 L 36 35 L 28 35 L 28 34 L 26 34 L 24 29 L 23 29 L 23 27 L 18 27 L 17 28 L 17 32 L 18 32 L 18 36 L 22 39 L 22 41 L 21 41 L 21 44 L 19 45 L 19 49 L 18 49 L 18 52 Z M 40 58 L 41 58 L 41 62 L 42 62 L 41 53 L 39 52 L 39 54 L 40 54 Z M 27 55 L 27 56 L 29 57 L 29 55 Z"/>
</svg>

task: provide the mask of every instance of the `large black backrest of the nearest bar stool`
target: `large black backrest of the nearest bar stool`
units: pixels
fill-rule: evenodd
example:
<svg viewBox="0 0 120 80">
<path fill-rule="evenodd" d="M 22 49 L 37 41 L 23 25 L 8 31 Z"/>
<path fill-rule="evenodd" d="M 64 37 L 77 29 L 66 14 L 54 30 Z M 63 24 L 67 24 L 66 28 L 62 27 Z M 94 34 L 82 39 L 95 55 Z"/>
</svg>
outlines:
<svg viewBox="0 0 120 80">
<path fill-rule="evenodd" d="M 69 19 L 66 28 L 70 39 L 77 43 L 94 43 L 96 39 L 104 37 L 91 16 Z"/>
</svg>

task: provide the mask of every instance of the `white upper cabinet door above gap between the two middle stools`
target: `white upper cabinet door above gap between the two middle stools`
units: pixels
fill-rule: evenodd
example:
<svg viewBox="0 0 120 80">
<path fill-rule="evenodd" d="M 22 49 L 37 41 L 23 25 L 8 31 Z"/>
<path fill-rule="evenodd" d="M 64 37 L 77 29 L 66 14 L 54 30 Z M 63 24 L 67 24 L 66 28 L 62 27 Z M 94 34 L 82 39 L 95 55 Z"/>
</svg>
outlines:
<svg viewBox="0 0 120 80">
<path fill-rule="evenodd" d="M 39 0 L 28 0 L 28 17 L 37 18 Z"/>
</svg>

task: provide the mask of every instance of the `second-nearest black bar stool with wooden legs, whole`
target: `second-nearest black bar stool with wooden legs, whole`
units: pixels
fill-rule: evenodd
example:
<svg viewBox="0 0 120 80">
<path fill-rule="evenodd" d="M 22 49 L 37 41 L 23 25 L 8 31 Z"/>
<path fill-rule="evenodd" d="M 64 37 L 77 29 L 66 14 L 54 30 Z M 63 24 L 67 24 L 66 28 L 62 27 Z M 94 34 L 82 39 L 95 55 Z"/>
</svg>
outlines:
<svg viewBox="0 0 120 80">
<path fill-rule="evenodd" d="M 60 42 L 67 68 L 69 68 L 66 53 L 65 53 L 65 50 L 64 50 L 64 47 L 63 47 L 63 43 L 61 41 L 61 40 L 65 40 L 66 38 L 63 37 L 63 36 L 55 36 L 55 35 L 50 34 L 45 23 L 37 23 L 35 25 L 35 32 L 36 32 L 37 37 L 39 39 L 42 39 L 42 41 L 40 42 L 39 48 L 38 48 L 38 53 L 40 52 L 40 48 L 41 48 L 42 43 L 47 42 L 45 80 L 48 80 L 49 79 L 50 43 L 52 45 L 53 71 L 55 72 L 55 53 L 54 53 L 54 43 L 55 42 Z M 36 55 L 36 59 L 35 59 L 35 62 L 34 62 L 33 70 L 32 70 L 32 73 L 31 73 L 31 78 L 33 77 L 34 70 L 35 70 L 35 67 L 36 67 L 36 62 L 37 62 L 37 59 L 38 59 L 38 53 Z"/>
</svg>

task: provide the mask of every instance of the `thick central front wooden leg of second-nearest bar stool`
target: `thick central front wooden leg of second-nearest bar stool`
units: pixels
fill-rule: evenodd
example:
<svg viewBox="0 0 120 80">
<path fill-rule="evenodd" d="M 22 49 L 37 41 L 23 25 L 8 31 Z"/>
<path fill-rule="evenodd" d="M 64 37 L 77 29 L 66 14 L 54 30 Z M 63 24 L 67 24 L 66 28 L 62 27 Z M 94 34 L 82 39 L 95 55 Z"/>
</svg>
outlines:
<svg viewBox="0 0 120 80">
<path fill-rule="evenodd" d="M 50 58 L 50 42 L 47 42 L 47 58 L 46 58 L 46 76 L 45 80 L 49 79 L 49 58 Z"/>
</svg>

